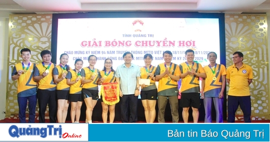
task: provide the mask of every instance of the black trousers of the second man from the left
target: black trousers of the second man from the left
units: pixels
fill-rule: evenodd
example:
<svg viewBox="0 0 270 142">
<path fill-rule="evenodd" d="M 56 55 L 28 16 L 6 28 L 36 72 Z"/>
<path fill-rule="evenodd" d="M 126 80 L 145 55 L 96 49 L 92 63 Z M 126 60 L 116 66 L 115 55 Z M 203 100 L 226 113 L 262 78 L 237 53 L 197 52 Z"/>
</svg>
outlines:
<svg viewBox="0 0 270 142">
<path fill-rule="evenodd" d="M 49 117 L 50 123 L 56 123 L 56 113 L 57 113 L 57 101 L 55 90 L 37 90 L 37 100 L 39 107 L 39 123 L 45 123 L 45 112 L 47 105 L 49 105 Z"/>
</svg>

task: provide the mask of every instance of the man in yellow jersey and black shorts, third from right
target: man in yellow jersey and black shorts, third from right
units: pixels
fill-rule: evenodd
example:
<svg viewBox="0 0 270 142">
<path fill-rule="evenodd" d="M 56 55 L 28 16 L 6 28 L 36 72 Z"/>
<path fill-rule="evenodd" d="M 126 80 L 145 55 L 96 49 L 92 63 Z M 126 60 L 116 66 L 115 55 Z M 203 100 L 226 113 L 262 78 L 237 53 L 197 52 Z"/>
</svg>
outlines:
<svg viewBox="0 0 270 142">
<path fill-rule="evenodd" d="M 199 78 L 206 78 L 206 73 L 201 64 L 194 62 L 194 51 L 188 49 L 186 52 L 186 62 L 179 65 L 182 79 L 181 104 L 183 108 L 182 116 L 185 123 L 189 120 L 189 107 L 192 108 L 193 122 L 197 123 L 199 119 L 200 82 Z"/>
</svg>

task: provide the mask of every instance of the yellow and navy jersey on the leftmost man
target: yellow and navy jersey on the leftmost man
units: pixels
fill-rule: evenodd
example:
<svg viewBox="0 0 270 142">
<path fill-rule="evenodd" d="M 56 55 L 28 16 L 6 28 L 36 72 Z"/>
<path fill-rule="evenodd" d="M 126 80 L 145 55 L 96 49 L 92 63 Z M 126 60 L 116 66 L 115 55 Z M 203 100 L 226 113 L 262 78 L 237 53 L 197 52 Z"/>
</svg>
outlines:
<svg viewBox="0 0 270 142">
<path fill-rule="evenodd" d="M 17 93 L 18 97 L 28 97 L 36 94 L 37 84 L 34 81 L 33 73 L 34 73 L 34 63 L 30 63 L 27 71 L 20 75 L 17 80 Z M 27 67 L 25 67 L 27 68 Z M 17 75 L 19 70 L 23 70 L 22 62 L 17 63 L 12 72 L 12 76 Z"/>
</svg>

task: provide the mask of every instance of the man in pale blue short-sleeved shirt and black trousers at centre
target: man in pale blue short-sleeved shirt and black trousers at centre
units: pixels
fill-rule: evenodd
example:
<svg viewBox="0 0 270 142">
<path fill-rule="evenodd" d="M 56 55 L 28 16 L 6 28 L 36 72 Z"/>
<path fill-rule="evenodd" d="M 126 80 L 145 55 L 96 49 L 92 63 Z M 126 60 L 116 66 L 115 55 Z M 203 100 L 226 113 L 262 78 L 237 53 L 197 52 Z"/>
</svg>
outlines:
<svg viewBox="0 0 270 142">
<path fill-rule="evenodd" d="M 130 52 L 124 53 L 123 59 L 125 63 L 118 66 L 115 73 L 116 82 L 120 84 L 121 119 L 122 123 L 134 123 L 137 121 L 140 68 L 131 63 L 133 55 Z"/>
</svg>

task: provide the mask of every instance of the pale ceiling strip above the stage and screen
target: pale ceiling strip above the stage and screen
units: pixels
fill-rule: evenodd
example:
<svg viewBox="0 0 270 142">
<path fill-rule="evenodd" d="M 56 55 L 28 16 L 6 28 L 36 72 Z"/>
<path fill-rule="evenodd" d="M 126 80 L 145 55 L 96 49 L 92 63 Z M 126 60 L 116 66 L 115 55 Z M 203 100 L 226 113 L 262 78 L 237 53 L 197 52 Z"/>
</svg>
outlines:
<svg viewBox="0 0 270 142">
<path fill-rule="evenodd" d="M 0 17 L 90 11 L 267 13 L 270 0 L 0 0 Z"/>
</svg>

